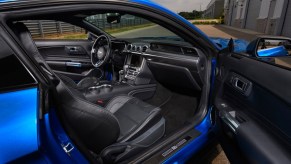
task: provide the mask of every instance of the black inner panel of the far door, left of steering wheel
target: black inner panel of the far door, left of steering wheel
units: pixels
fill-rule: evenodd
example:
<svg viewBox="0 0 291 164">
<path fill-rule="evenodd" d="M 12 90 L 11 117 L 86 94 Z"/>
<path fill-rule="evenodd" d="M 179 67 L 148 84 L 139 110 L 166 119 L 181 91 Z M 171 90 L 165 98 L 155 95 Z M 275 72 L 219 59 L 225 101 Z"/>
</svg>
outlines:
<svg viewBox="0 0 291 164">
<path fill-rule="evenodd" d="M 75 81 L 88 76 L 101 77 L 90 60 L 92 43 L 88 40 L 37 40 L 39 52 L 57 73 Z"/>
</svg>

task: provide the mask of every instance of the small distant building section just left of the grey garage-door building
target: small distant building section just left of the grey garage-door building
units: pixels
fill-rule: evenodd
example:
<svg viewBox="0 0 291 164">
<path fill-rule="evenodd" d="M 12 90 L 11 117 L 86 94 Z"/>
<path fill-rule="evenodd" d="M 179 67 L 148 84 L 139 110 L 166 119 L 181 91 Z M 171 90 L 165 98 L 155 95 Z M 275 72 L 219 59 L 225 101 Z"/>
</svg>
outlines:
<svg viewBox="0 0 291 164">
<path fill-rule="evenodd" d="M 223 14 L 224 0 L 211 0 L 204 11 L 204 18 L 219 18 Z"/>
</svg>

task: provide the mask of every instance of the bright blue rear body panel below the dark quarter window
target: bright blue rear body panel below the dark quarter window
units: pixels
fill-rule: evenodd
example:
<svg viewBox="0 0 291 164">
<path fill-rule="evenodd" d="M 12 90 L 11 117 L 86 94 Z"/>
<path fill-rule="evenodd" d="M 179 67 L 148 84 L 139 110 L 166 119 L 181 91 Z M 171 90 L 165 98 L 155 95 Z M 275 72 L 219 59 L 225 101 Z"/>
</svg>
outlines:
<svg viewBox="0 0 291 164">
<path fill-rule="evenodd" d="M 38 150 L 37 94 L 37 88 L 0 94 L 0 163 Z"/>
</svg>

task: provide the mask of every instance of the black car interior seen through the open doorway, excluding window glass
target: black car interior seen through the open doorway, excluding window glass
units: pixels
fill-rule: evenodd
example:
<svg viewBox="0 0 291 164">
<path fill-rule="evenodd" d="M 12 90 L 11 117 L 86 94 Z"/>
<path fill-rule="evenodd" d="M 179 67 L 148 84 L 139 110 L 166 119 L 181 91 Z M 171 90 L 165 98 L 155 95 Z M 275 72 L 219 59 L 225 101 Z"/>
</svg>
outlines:
<svg viewBox="0 0 291 164">
<path fill-rule="evenodd" d="M 93 161 L 124 162 L 192 125 L 207 101 L 202 95 L 208 63 L 199 48 L 178 36 L 106 34 L 84 21 L 96 14 L 106 13 L 39 15 L 7 24 L 53 81 L 58 117 L 79 149 Z M 31 19 L 71 23 L 94 39 L 35 40 L 25 25 Z"/>
</svg>

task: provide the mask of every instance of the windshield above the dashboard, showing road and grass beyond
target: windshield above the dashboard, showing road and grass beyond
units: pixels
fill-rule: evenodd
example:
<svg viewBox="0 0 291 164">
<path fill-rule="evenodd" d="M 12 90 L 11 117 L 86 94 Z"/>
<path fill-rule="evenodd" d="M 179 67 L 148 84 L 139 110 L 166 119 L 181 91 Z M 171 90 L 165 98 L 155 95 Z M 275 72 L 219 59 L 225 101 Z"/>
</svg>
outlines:
<svg viewBox="0 0 291 164">
<path fill-rule="evenodd" d="M 153 40 L 170 39 L 183 41 L 183 39 L 173 32 L 149 20 L 125 14 L 120 15 L 119 20 L 108 23 L 109 16 L 109 13 L 97 14 L 86 17 L 85 20 L 116 38 L 148 38 Z"/>
</svg>

